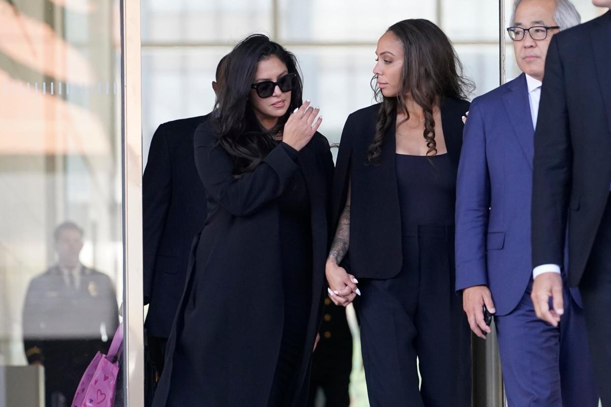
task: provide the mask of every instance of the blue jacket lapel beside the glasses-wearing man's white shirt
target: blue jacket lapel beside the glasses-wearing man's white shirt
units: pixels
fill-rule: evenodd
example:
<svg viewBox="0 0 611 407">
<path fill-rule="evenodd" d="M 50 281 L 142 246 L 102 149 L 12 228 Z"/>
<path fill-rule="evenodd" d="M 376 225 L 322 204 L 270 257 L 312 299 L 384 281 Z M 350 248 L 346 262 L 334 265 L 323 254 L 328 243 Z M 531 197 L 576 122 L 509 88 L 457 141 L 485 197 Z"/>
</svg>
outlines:
<svg viewBox="0 0 611 407">
<path fill-rule="evenodd" d="M 503 103 L 507 109 L 507 116 L 513 127 L 518 142 L 524 151 L 530 169 L 533 167 L 535 153 L 535 129 L 533 129 L 532 115 L 530 114 L 529 92 L 526 85 L 526 75 L 522 73 L 509 84 L 510 92 L 503 96 Z"/>
</svg>

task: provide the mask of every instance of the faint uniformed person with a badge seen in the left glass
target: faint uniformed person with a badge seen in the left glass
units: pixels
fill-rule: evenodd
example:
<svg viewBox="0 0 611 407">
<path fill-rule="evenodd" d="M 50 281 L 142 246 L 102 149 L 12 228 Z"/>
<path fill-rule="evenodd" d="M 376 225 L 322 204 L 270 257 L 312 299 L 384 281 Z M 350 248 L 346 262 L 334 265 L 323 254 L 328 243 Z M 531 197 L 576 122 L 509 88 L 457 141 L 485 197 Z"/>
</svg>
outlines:
<svg viewBox="0 0 611 407">
<path fill-rule="evenodd" d="M 23 343 L 27 362 L 45 367 L 45 405 L 67 407 L 93 356 L 108 351 L 119 313 L 111 279 L 79 260 L 82 229 L 64 222 L 54 240 L 57 263 L 27 288 Z"/>
</svg>

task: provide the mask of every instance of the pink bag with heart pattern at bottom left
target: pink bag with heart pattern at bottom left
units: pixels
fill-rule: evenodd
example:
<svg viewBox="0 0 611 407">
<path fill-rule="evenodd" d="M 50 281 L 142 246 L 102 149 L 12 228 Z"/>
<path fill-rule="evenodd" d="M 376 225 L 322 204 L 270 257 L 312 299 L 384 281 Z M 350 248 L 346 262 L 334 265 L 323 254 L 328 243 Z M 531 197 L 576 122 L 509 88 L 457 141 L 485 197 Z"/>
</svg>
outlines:
<svg viewBox="0 0 611 407">
<path fill-rule="evenodd" d="M 123 324 L 120 324 L 108 355 L 98 352 L 87 366 L 70 407 L 112 407 L 122 345 Z"/>
</svg>

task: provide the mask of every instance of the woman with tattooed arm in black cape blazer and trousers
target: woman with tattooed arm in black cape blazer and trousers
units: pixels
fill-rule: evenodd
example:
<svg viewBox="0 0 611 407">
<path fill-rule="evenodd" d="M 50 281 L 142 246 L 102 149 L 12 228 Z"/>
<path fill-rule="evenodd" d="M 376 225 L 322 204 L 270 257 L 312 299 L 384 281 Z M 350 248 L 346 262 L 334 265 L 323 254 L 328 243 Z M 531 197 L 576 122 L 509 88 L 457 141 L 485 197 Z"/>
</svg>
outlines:
<svg viewBox="0 0 611 407">
<path fill-rule="evenodd" d="M 448 38 L 427 20 L 391 26 L 376 55 L 380 103 L 349 115 L 337 158 L 329 297 L 346 305 L 361 294 L 371 406 L 470 406 L 454 206 L 471 85 Z"/>
</svg>

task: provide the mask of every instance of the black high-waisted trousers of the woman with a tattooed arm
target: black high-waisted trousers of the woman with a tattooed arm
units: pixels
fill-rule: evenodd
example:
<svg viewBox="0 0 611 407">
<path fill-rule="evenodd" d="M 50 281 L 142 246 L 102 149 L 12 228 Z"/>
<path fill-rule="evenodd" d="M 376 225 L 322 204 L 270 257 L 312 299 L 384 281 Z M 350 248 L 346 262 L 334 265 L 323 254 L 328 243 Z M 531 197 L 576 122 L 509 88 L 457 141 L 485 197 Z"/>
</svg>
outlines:
<svg viewBox="0 0 611 407">
<path fill-rule="evenodd" d="M 454 280 L 454 231 L 444 226 L 403 236 L 394 278 L 359 279 L 371 407 L 471 406 L 470 330 Z"/>
</svg>

